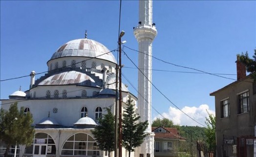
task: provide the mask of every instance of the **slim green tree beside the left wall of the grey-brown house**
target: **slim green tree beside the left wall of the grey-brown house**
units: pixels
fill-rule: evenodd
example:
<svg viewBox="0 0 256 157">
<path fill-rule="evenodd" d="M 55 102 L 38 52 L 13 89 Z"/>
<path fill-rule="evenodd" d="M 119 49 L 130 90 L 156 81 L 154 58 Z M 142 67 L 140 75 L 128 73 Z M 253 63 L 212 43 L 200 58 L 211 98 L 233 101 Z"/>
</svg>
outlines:
<svg viewBox="0 0 256 157">
<path fill-rule="evenodd" d="M 205 135 L 206 135 L 206 142 L 208 144 L 209 150 L 215 152 L 215 147 L 216 147 L 216 138 L 215 138 L 215 117 L 213 114 L 210 114 L 208 111 L 207 113 L 209 114 L 209 118 L 206 118 L 206 125 L 207 128 L 205 130 Z"/>
</svg>

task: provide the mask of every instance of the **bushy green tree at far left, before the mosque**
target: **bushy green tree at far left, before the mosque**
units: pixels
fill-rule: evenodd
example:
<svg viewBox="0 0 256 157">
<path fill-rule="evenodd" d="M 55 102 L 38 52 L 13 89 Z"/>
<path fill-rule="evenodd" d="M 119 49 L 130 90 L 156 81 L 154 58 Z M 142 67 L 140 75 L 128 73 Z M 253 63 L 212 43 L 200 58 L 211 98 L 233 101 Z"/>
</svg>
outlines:
<svg viewBox="0 0 256 157">
<path fill-rule="evenodd" d="M 1 109 L 0 139 L 7 145 L 4 157 L 8 156 L 12 145 L 28 146 L 32 143 L 35 134 L 34 128 L 31 127 L 32 123 L 32 115 L 29 112 L 24 114 L 23 107 L 19 112 L 17 102 L 11 104 L 9 111 Z"/>
</svg>

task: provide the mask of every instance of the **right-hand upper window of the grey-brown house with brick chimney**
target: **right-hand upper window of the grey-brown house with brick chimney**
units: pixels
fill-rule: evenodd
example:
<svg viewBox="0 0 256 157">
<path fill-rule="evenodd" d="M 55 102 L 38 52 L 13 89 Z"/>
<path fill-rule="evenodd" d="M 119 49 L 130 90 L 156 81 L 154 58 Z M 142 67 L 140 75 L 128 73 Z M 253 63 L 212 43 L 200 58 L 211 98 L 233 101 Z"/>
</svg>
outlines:
<svg viewBox="0 0 256 157">
<path fill-rule="evenodd" d="M 249 91 L 239 94 L 239 114 L 249 112 L 250 106 L 249 106 Z"/>
</svg>

